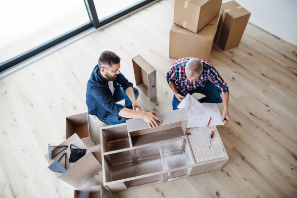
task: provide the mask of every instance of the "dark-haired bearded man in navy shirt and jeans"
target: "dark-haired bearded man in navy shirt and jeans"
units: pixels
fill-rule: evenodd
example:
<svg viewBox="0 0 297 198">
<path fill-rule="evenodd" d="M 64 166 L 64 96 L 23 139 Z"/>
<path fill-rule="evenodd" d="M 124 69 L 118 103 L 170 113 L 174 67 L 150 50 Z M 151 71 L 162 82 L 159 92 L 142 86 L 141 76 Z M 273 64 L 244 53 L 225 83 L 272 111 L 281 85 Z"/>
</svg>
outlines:
<svg viewBox="0 0 297 198">
<path fill-rule="evenodd" d="M 87 83 L 86 103 L 89 114 L 111 125 L 129 118 L 142 118 L 149 128 L 159 127 L 155 112 L 143 112 L 136 101 L 138 90 L 120 72 L 121 58 L 113 51 L 103 51 Z M 125 99 L 125 105 L 116 102 Z"/>
</svg>

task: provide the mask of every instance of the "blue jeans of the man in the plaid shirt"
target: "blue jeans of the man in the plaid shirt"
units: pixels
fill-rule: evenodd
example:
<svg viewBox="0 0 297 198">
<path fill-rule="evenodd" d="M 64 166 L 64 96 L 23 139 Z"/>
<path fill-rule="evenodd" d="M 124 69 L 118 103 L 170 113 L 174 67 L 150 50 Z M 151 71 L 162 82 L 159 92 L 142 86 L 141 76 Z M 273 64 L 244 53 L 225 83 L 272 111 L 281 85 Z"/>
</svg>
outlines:
<svg viewBox="0 0 297 198">
<path fill-rule="evenodd" d="M 184 95 L 179 89 L 177 90 L 178 93 L 182 96 L 186 96 Z M 208 103 L 221 103 L 223 100 L 221 99 L 220 96 L 220 90 L 219 88 L 217 88 L 213 82 L 211 81 L 207 81 L 206 85 L 204 88 L 198 87 L 195 90 L 191 90 L 189 92 L 189 94 L 194 94 L 194 93 L 199 93 L 199 94 L 203 94 L 205 95 L 204 98 L 202 99 L 198 99 L 199 102 L 203 103 L 203 102 L 208 102 Z M 178 101 L 177 98 L 175 98 L 175 96 L 173 95 L 173 99 L 172 99 L 172 108 L 173 110 L 178 109 L 177 106 L 179 105 L 180 101 Z"/>
</svg>

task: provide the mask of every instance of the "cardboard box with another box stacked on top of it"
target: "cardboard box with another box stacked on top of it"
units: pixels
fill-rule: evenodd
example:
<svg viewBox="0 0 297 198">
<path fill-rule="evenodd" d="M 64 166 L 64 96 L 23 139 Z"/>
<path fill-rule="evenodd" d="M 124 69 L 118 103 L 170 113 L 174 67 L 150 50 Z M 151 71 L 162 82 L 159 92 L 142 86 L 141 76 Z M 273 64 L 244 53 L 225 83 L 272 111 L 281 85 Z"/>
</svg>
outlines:
<svg viewBox="0 0 297 198">
<path fill-rule="evenodd" d="M 218 15 L 197 34 L 173 24 L 170 30 L 169 57 L 195 57 L 208 60 L 218 22 Z"/>
</svg>

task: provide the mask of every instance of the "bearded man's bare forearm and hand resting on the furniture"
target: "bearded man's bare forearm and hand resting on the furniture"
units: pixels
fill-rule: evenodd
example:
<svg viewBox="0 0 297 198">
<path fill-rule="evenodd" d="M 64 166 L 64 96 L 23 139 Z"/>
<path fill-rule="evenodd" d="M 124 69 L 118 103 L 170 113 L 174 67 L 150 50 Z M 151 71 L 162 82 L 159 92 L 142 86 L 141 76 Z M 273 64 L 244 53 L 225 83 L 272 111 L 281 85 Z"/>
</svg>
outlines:
<svg viewBox="0 0 297 198">
<path fill-rule="evenodd" d="M 144 111 L 134 111 L 129 108 L 122 108 L 119 112 L 119 116 L 126 118 L 141 118 L 148 123 L 149 128 L 159 127 L 156 120 L 163 122 L 160 118 L 154 116 L 155 112 L 144 112 Z"/>
</svg>

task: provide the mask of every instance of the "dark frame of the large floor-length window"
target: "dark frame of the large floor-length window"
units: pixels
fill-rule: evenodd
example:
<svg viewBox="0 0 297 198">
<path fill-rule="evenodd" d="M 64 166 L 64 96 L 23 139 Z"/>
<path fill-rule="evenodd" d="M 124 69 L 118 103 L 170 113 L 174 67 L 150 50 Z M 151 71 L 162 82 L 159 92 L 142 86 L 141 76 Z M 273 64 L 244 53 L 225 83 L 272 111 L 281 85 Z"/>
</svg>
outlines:
<svg viewBox="0 0 297 198">
<path fill-rule="evenodd" d="M 129 6 L 125 9 L 122 9 L 104 19 L 101 19 L 99 20 L 98 19 L 98 15 L 97 15 L 97 12 L 96 12 L 96 8 L 95 8 L 95 4 L 94 4 L 94 1 L 93 0 L 84 0 L 85 1 L 85 4 L 86 4 L 86 8 L 87 8 L 87 11 L 88 11 L 88 14 L 89 14 L 89 17 L 90 17 L 90 21 L 73 29 L 73 30 L 70 30 L 54 39 L 51 39 L 49 40 L 48 42 L 44 43 L 44 44 L 41 44 L 40 46 L 37 46 L 33 49 L 30 49 L 24 53 L 21 53 L 13 58 L 10 58 L 9 60 L 6 60 L 2 63 L 0 63 L 0 73 L 4 72 L 4 71 L 7 71 L 8 69 L 12 68 L 13 66 L 19 64 L 19 63 L 22 63 L 24 61 L 26 61 L 27 59 L 35 56 L 35 55 L 38 55 L 42 52 L 44 52 L 45 50 L 47 49 L 50 49 L 86 30 L 89 30 L 91 28 L 100 28 L 108 23 L 111 23 L 112 21 L 114 20 L 117 20 L 118 18 L 121 18 L 153 1 L 156 1 L 156 0 L 143 0 L 143 1 L 140 1 L 132 6 Z"/>
</svg>

